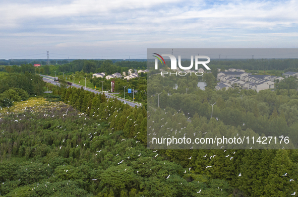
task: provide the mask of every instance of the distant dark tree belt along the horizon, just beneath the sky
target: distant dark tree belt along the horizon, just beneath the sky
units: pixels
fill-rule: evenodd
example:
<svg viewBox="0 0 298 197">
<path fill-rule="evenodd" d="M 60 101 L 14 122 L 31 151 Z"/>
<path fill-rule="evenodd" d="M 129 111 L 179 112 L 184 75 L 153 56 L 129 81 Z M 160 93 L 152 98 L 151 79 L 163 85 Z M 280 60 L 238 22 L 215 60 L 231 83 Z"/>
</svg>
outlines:
<svg viewBox="0 0 298 197">
<path fill-rule="evenodd" d="M 0 61 L 2 65 L 2 71 L 7 72 L 17 72 L 16 67 L 10 69 L 11 65 L 24 65 L 34 63 L 40 63 L 39 61 L 16 61 L 18 63 L 10 63 Z M 53 75 L 56 71 L 57 75 L 62 75 L 63 73 L 71 74 L 75 72 L 85 72 L 85 73 L 101 73 L 105 72 L 106 75 L 113 73 L 123 73 L 127 72 L 129 69 L 145 70 L 147 68 L 146 59 L 135 59 L 135 60 L 121 60 L 121 59 L 111 59 L 111 60 L 93 60 L 93 59 L 75 59 L 70 62 L 68 60 L 52 60 L 50 65 L 41 63 L 40 71 L 44 75 Z M 166 61 L 166 64 L 170 64 Z M 183 65 L 190 65 L 189 60 L 183 60 Z M 280 76 L 283 72 L 298 72 L 298 59 L 212 59 L 208 66 L 211 68 L 213 73 L 217 72 L 217 69 L 227 70 L 229 68 L 234 69 L 244 69 L 247 71 L 274 71 L 272 74 Z M 35 72 L 39 73 L 39 68 L 35 68 Z M 215 75 L 215 74 L 214 74 Z"/>
</svg>

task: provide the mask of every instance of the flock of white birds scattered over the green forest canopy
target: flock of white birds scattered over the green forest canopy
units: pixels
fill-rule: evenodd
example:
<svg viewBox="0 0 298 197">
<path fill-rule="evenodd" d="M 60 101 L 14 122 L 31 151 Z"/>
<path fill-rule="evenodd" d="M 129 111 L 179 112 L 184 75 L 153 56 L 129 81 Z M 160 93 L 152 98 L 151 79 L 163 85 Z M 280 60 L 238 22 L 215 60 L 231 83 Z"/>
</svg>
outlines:
<svg viewBox="0 0 298 197">
<path fill-rule="evenodd" d="M 34 101 L 34 100 L 33 100 Z M 27 101 L 28 102 L 28 101 Z M 112 101 L 110 101 L 110 102 L 112 102 Z M 37 104 L 38 104 L 38 102 L 37 102 Z M 22 104 L 23 105 L 23 104 Z M 55 105 L 54 107 L 53 106 L 51 106 L 51 105 Z M 56 110 L 56 109 L 58 109 L 59 108 L 59 103 L 57 104 L 57 103 L 51 103 L 51 105 L 47 105 L 47 104 L 44 104 L 43 105 L 43 107 L 47 107 L 47 108 L 49 108 L 49 109 L 51 109 L 51 111 L 53 112 L 53 110 Z M 108 107 L 108 106 L 107 106 Z M 112 108 L 112 107 L 111 107 Z M 20 108 L 20 109 L 15 109 L 14 111 L 12 111 L 12 112 L 6 112 L 6 113 L 0 113 L 0 115 L 8 115 L 8 114 L 19 114 L 19 113 L 22 113 L 22 112 L 25 112 L 25 111 L 31 111 L 31 112 L 37 112 L 37 111 L 34 111 L 33 109 L 35 109 L 35 107 L 26 107 L 25 106 L 25 108 Z M 98 108 L 99 109 L 99 108 Z M 116 110 L 116 108 L 114 109 L 114 110 Z M 119 108 L 118 110 L 121 110 L 121 108 Z M 117 111 L 118 111 L 117 110 Z M 39 111 L 39 110 L 38 110 Z M 110 110 L 108 110 L 108 111 L 110 111 Z M 181 109 L 180 110 L 178 110 L 178 112 L 179 111 L 181 111 Z M 149 111 L 147 111 L 147 113 L 148 113 Z M 176 112 L 176 114 L 178 113 L 178 112 Z M 59 118 L 64 118 L 64 117 L 66 117 L 66 115 L 67 115 L 67 113 L 68 113 L 68 109 L 67 109 L 67 111 L 66 111 L 66 113 L 65 114 L 63 114 L 62 115 L 62 117 L 59 117 Z M 95 113 L 95 112 L 94 112 Z M 165 114 L 166 114 L 167 112 L 165 112 Z M 79 113 L 78 114 L 79 115 L 79 117 L 81 117 L 82 115 L 85 115 L 85 116 L 87 116 L 87 114 L 85 114 L 85 113 Z M 111 114 L 109 114 L 109 116 L 110 116 Z M 173 114 L 172 116 L 174 116 L 175 114 Z M 185 114 L 183 114 L 183 115 L 185 115 Z M 54 115 L 49 115 L 49 114 L 47 114 L 47 113 L 45 113 L 44 114 L 44 116 L 45 117 L 54 117 Z M 92 116 L 94 116 L 94 115 L 92 115 Z M 117 116 L 117 115 L 116 115 Z M 116 117 L 115 116 L 115 117 Z M 149 117 L 150 115 L 148 115 L 147 117 Z M 18 117 L 18 115 L 17 115 L 17 117 Z M 24 117 L 25 117 L 25 115 L 24 115 Z M 129 117 L 129 116 L 128 116 Z M 127 118 L 128 118 L 127 117 Z M 0 120 L 1 120 L 2 118 L 0 118 Z M 106 118 L 107 119 L 107 118 Z M 161 120 L 163 120 L 164 118 L 162 118 Z M 189 118 L 188 118 L 189 119 Z M 19 120 L 21 120 L 21 118 L 19 119 Z M 14 122 L 19 122 L 19 120 L 14 120 Z M 85 120 L 86 120 L 86 117 L 85 117 Z M 132 120 L 132 119 L 130 119 L 130 120 Z M 218 121 L 218 118 L 216 118 L 216 120 Z M 136 121 L 135 121 L 136 122 Z M 134 123 L 135 123 L 134 122 Z M 152 121 L 153 123 L 154 123 L 154 120 Z M 166 124 L 167 124 L 168 122 L 165 122 L 165 124 L 164 125 L 161 125 L 161 127 L 163 127 L 163 126 L 165 126 Z M 109 124 L 110 124 L 110 122 L 109 122 Z M 181 124 L 181 122 L 178 122 L 178 124 Z M 86 125 L 86 123 L 84 124 L 84 125 Z M 134 126 L 136 126 L 136 125 L 138 125 L 138 124 L 135 124 Z M 243 124 L 243 125 L 245 125 L 245 124 Z M 88 125 L 87 125 L 88 126 Z M 100 126 L 100 124 L 98 124 L 97 126 Z M 63 126 L 57 126 L 57 127 L 59 127 L 59 128 L 62 128 Z M 151 127 L 151 126 L 150 126 Z M 149 128 L 150 128 L 149 127 Z M 181 130 L 182 129 L 184 129 L 184 128 L 186 128 L 186 127 L 181 127 Z M 111 129 L 114 129 L 114 128 L 111 128 Z M 170 129 L 170 128 L 167 128 L 167 129 Z M 64 129 L 65 130 L 65 129 Z M 152 129 L 152 131 L 154 130 L 154 128 Z M 181 130 L 180 130 L 180 132 L 179 133 L 181 133 Z M 171 132 L 172 132 L 172 129 L 171 129 Z M 4 131 L 2 132 L 2 134 L 4 133 Z M 95 135 L 97 132 L 95 132 L 94 134 L 92 134 L 91 135 L 91 133 L 89 134 L 89 135 L 91 135 L 89 138 L 92 138 L 93 137 L 93 135 Z M 137 135 L 139 134 L 140 132 L 138 132 L 137 133 Z M 176 135 L 176 133 L 177 133 L 177 130 L 175 130 L 174 131 L 174 133 L 175 133 L 175 135 Z M 112 133 L 110 133 L 110 135 L 111 135 Z M 206 133 L 204 133 L 204 134 L 206 134 Z M 149 134 L 149 135 L 151 135 L 151 133 Z M 148 135 L 148 136 L 149 136 Z M 155 132 L 153 133 L 153 135 L 155 136 L 156 134 L 155 134 Z M 184 134 L 184 136 L 185 136 L 186 134 Z M 194 136 L 196 135 L 196 133 L 194 133 Z M 0 136 L 1 137 L 1 136 Z M 137 136 L 135 136 L 134 138 L 136 138 Z M 92 139 L 91 139 L 91 141 L 92 141 Z M 126 141 L 126 139 L 122 139 L 122 141 Z M 62 143 L 64 143 L 65 142 L 65 139 L 62 141 Z M 140 142 L 140 141 L 136 141 L 136 143 L 138 143 L 138 142 Z M 151 143 L 151 142 L 150 142 Z M 85 146 L 86 144 L 84 144 L 84 146 Z M 77 145 L 77 147 L 78 147 L 78 145 Z M 63 148 L 63 146 L 60 146 L 59 147 L 59 149 L 61 149 L 61 148 Z M 222 148 L 224 148 L 224 147 L 221 147 L 220 149 L 222 149 Z M 97 156 L 100 152 L 101 152 L 102 150 L 100 150 L 100 151 L 96 151 L 96 154 L 95 154 L 95 156 Z M 158 150 L 155 150 L 155 151 L 153 151 L 153 152 L 157 152 Z M 224 152 L 227 152 L 227 150 L 224 150 Z M 235 154 L 236 153 L 236 151 L 234 151 L 234 152 L 232 152 L 232 153 L 230 153 L 230 154 Z M 158 156 L 159 154 L 157 154 L 157 155 L 155 155 L 155 157 L 154 158 L 156 158 L 157 156 Z M 116 157 L 117 156 L 119 156 L 118 154 L 117 155 L 115 155 Z M 139 154 L 139 155 L 137 155 L 137 156 L 141 156 L 141 153 Z M 210 160 L 213 158 L 214 159 L 214 157 L 215 157 L 216 155 L 212 155 L 212 156 L 210 156 Z M 207 154 L 205 155 L 205 156 L 203 156 L 203 157 L 205 157 L 205 158 L 207 158 Z M 208 158 L 209 158 L 209 156 L 208 156 Z M 230 156 L 229 154 L 227 155 L 227 156 L 225 156 L 225 158 L 228 158 L 229 160 L 232 160 L 233 159 L 233 157 L 232 156 Z M 130 156 L 128 157 L 128 159 L 130 159 Z M 191 160 L 192 159 L 192 157 L 190 157 L 190 158 L 188 158 L 189 160 Z M 124 160 L 122 160 L 122 161 L 120 161 L 120 162 L 118 162 L 117 164 L 118 165 L 120 165 L 120 164 L 122 164 L 124 162 Z M 32 163 L 32 162 L 31 162 Z M 49 165 L 49 164 L 48 164 Z M 206 168 L 211 168 L 212 166 L 207 166 Z M 189 171 L 191 171 L 191 167 L 189 168 Z M 27 169 L 26 169 L 27 170 Z M 71 169 L 70 169 L 71 170 Z M 124 171 L 126 171 L 126 170 L 128 170 L 127 168 L 124 170 Z M 151 170 L 151 169 L 150 169 Z M 67 170 L 64 170 L 65 171 L 65 173 L 67 173 L 69 170 L 67 169 Z M 185 170 L 185 172 L 184 173 L 186 173 L 187 172 L 187 170 Z M 139 171 L 137 171 L 137 174 L 139 173 Z M 42 175 L 41 175 L 42 176 Z M 242 174 L 240 173 L 239 175 L 238 175 L 238 177 L 240 177 L 240 176 L 242 176 Z M 285 174 L 283 174 L 282 176 L 287 176 L 287 173 L 285 173 Z M 53 175 L 53 177 L 54 177 L 54 175 Z M 166 179 L 168 179 L 170 177 L 170 174 L 166 177 Z M 153 177 L 152 177 L 153 178 Z M 96 181 L 97 180 L 97 178 L 96 179 L 92 179 L 93 181 Z M 291 181 L 294 181 L 293 179 L 290 179 L 289 180 L 290 182 Z M 199 182 L 199 181 L 198 181 Z M 49 183 L 49 182 L 46 182 L 46 183 Z M 4 182 L 2 183 L 2 184 L 4 184 Z M 67 183 L 68 184 L 68 183 Z M 181 183 L 182 184 L 182 183 Z M 39 186 L 39 183 L 37 183 L 37 185 L 35 185 L 36 187 L 38 187 Z M 45 187 L 47 187 L 47 185 L 45 184 Z M 219 187 L 218 187 L 219 188 Z M 34 188 L 32 188 L 32 190 L 33 189 L 35 189 L 35 187 Z M 53 189 L 54 190 L 54 189 Z M 200 189 L 199 191 L 197 191 L 197 193 L 200 193 L 202 191 L 202 189 Z M 293 192 L 293 193 L 291 193 L 291 195 L 295 195 L 295 193 L 296 192 Z"/>
</svg>

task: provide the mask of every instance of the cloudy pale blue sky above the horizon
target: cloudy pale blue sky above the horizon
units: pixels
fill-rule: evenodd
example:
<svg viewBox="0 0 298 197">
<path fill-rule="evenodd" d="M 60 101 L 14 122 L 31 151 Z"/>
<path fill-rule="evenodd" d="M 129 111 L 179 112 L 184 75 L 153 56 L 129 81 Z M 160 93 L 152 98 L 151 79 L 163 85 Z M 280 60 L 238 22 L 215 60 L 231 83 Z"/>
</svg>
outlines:
<svg viewBox="0 0 298 197">
<path fill-rule="evenodd" d="M 298 48 L 298 1 L 0 3 L 0 59 L 146 58 L 147 48 Z"/>
</svg>

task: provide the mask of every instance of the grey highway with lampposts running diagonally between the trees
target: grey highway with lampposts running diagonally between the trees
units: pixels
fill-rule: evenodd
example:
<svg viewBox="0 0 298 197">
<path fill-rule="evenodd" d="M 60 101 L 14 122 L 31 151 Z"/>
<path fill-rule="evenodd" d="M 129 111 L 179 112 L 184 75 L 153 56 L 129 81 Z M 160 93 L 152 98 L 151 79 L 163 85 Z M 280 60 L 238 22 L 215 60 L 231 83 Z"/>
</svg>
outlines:
<svg viewBox="0 0 298 197">
<path fill-rule="evenodd" d="M 54 84 L 54 85 L 59 85 L 59 82 L 54 82 L 54 77 L 51 77 L 51 76 L 46 76 L 46 75 L 40 75 L 41 77 L 43 77 L 43 81 L 47 82 L 47 83 L 51 83 L 51 84 Z M 81 85 L 77 85 L 77 84 L 72 84 L 72 87 L 76 87 L 76 88 L 81 88 L 83 87 L 84 90 L 85 90 L 85 87 L 84 86 L 81 86 Z M 90 89 L 90 88 L 86 88 L 87 91 L 90 91 L 90 92 L 94 92 L 95 94 L 101 94 L 100 91 L 97 91 L 97 90 L 93 90 L 93 89 Z M 115 97 L 113 96 L 113 94 L 109 94 L 107 93 L 107 95 L 105 95 L 106 98 L 116 98 L 118 100 L 121 100 L 122 102 L 124 102 L 124 99 L 123 98 L 119 98 L 119 97 Z M 132 107 L 135 107 L 136 105 L 137 106 L 141 106 L 141 103 L 137 103 L 137 102 L 132 102 L 130 100 L 125 100 L 127 104 L 129 104 L 130 106 Z"/>
</svg>

